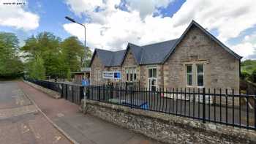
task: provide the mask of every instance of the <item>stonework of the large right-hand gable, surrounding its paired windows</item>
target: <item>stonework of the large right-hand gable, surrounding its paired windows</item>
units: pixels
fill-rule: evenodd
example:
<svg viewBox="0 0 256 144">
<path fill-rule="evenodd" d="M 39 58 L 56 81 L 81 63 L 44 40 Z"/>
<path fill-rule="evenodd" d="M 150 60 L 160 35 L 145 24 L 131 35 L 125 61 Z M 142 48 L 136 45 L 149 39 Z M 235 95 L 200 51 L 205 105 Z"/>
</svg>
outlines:
<svg viewBox="0 0 256 144">
<path fill-rule="evenodd" d="M 186 87 L 185 64 L 204 63 L 206 88 L 239 90 L 239 61 L 193 26 L 164 64 L 165 87 Z M 194 82 L 195 82 L 195 75 Z"/>
</svg>

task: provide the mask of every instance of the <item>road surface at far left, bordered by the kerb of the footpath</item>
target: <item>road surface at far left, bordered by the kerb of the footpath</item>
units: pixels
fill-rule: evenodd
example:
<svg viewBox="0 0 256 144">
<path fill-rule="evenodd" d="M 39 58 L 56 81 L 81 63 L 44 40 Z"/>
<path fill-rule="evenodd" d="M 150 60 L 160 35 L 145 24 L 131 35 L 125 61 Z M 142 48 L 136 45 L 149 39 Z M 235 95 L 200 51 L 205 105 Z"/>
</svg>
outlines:
<svg viewBox="0 0 256 144">
<path fill-rule="evenodd" d="M 0 143 L 71 143 L 18 87 L 0 81 Z"/>
</svg>

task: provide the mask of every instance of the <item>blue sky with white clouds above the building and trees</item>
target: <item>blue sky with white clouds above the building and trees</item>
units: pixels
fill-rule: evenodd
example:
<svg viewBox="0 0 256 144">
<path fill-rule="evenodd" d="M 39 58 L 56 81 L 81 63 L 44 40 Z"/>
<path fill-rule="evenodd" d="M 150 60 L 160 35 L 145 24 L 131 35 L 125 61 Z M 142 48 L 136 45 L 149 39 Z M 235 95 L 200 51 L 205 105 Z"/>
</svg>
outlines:
<svg viewBox="0 0 256 144">
<path fill-rule="evenodd" d="M 11 4 L 6 4 L 11 3 Z M 122 50 L 176 39 L 195 20 L 243 60 L 256 59 L 255 0 L 0 0 L 0 31 L 76 36 L 92 50 Z"/>
</svg>

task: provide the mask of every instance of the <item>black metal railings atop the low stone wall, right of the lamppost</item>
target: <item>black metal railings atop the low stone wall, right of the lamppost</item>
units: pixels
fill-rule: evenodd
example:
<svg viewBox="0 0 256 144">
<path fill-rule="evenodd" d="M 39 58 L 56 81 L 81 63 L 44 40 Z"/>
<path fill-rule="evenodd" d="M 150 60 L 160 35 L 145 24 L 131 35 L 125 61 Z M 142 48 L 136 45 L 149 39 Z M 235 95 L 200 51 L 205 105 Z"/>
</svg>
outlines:
<svg viewBox="0 0 256 144">
<path fill-rule="evenodd" d="M 232 89 L 86 86 L 86 98 L 219 124 L 256 129 L 255 95 Z"/>
</svg>

